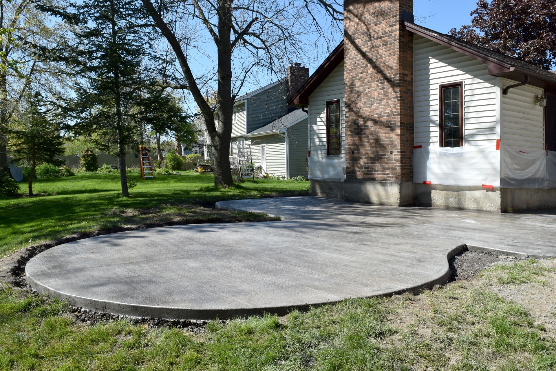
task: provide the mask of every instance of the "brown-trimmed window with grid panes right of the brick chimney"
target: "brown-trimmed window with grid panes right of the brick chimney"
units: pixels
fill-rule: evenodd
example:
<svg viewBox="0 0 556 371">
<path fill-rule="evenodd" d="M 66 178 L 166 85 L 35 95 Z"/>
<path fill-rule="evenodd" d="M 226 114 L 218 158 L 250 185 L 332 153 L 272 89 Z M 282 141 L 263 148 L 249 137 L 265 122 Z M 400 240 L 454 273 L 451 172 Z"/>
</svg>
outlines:
<svg viewBox="0 0 556 371">
<path fill-rule="evenodd" d="M 463 146 L 463 82 L 439 86 L 440 146 Z"/>
</svg>

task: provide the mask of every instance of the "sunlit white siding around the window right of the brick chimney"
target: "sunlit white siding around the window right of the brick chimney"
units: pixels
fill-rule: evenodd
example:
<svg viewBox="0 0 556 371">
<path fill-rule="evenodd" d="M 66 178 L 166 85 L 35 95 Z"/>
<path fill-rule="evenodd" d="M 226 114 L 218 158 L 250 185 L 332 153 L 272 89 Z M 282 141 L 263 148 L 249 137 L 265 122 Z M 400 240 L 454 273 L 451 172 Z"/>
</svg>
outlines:
<svg viewBox="0 0 556 371">
<path fill-rule="evenodd" d="M 485 63 L 414 37 L 415 145 L 439 146 L 439 85 L 463 81 L 464 145 L 495 145 L 496 78 Z"/>
</svg>

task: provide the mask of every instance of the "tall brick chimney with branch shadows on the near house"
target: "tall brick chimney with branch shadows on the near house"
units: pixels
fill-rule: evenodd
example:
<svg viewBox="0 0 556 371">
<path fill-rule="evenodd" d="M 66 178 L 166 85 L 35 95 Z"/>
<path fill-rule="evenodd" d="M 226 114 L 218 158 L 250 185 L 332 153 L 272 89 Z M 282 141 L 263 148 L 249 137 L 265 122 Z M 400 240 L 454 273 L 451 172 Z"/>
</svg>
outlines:
<svg viewBox="0 0 556 371">
<path fill-rule="evenodd" d="M 402 11 L 413 0 L 344 2 L 348 180 L 413 180 L 413 34 Z"/>
</svg>

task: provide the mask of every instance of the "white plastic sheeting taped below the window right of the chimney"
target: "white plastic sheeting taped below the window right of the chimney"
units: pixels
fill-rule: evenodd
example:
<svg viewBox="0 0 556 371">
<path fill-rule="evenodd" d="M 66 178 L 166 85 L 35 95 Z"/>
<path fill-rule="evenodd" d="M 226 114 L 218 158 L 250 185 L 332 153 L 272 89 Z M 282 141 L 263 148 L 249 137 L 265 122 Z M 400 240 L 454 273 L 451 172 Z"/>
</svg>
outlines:
<svg viewBox="0 0 556 371">
<path fill-rule="evenodd" d="M 413 181 L 426 184 L 498 187 L 500 151 L 497 151 L 495 146 L 416 148 L 413 150 Z"/>
</svg>

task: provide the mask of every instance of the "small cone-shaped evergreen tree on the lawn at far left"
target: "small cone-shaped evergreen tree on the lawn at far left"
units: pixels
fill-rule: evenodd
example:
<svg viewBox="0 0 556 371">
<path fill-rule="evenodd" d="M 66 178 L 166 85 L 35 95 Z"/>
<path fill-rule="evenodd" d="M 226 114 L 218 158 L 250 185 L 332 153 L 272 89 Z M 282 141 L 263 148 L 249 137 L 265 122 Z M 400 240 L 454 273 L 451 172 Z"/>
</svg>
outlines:
<svg viewBox="0 0 556 371">
<path fill-rule="evenodd" d="M 38 164 L 46 162 L 52 165 L 63 165 L 64 141 L 59 127 L 48 118 L 44 110 L 42 96 L 36 93 L 29 99 L 29 106 L 23 113 L 17 130 L 11 131 L 11 146 L 16 153 L 15 161 L 27 161 L 31 164 L 29 174 L 29 196 L 33 196 L 33 178 Z"/>
</svg>

